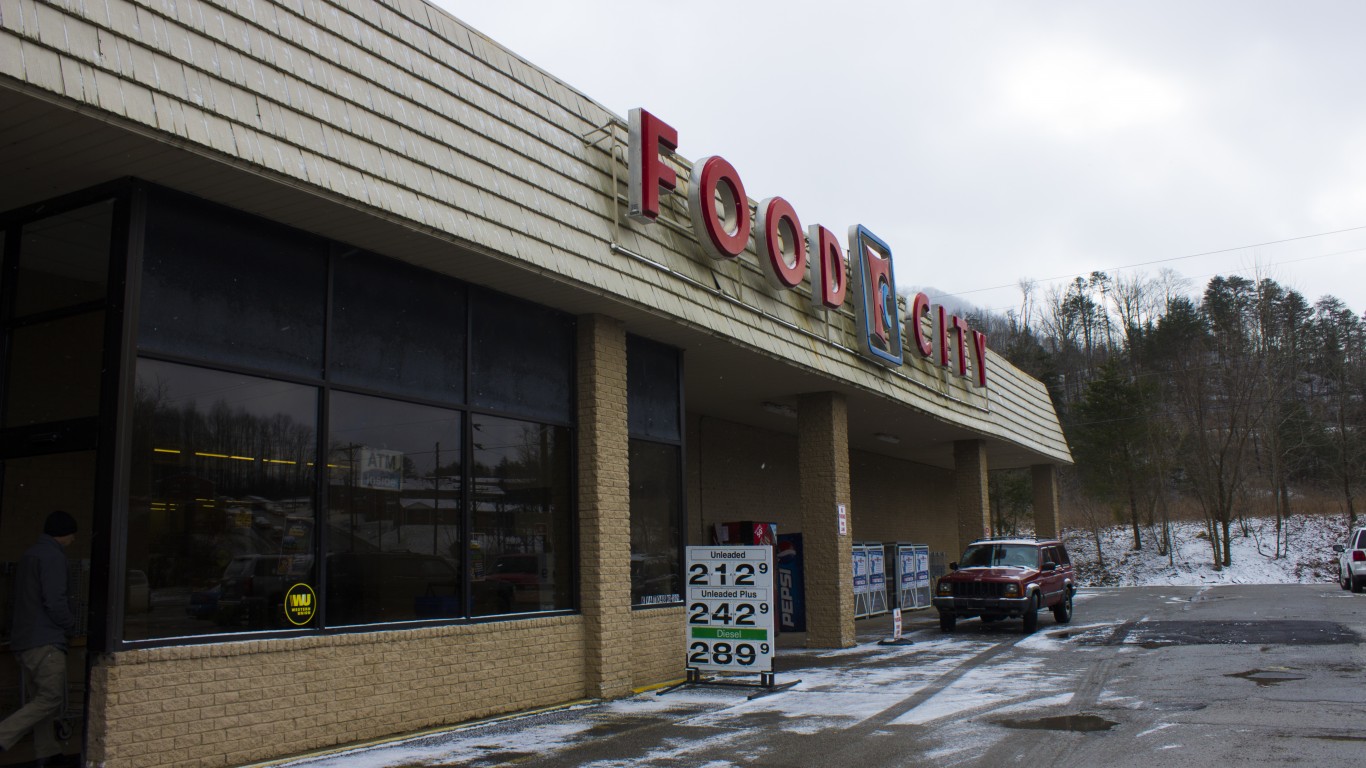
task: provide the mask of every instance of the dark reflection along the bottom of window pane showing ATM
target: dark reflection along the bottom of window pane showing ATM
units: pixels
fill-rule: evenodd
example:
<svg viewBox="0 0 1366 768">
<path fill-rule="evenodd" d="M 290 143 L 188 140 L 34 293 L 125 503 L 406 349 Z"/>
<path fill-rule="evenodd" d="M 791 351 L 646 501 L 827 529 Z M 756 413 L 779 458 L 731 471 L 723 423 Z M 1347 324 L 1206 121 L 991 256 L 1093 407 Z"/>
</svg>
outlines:
<svg viewBox="0 0 1366 768">
<path fill-rule="evenodd" d="M 328 556 L 328 623 L 460 615 L 460 574 L 436 555 L 342 552 Z"/>
</svg>

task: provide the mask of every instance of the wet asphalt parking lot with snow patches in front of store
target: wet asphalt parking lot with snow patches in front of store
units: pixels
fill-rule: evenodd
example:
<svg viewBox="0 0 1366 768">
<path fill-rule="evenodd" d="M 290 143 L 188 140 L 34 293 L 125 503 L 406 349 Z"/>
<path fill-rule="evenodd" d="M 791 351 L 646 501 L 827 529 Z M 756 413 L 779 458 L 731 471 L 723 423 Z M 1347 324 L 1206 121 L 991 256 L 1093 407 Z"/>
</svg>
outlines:
<svg viewBox="0 0 1366 768">
<path fill-rule="evenodd" d="M 1335 585 L 1089 589 L 1042 615 L 885 618 L 858 645 L 794 646 L 754 690 L 683 687 L 473 723 L 272 765 L 1332 765 L 1366 746 L 1366 596 Z"/>
</svg>

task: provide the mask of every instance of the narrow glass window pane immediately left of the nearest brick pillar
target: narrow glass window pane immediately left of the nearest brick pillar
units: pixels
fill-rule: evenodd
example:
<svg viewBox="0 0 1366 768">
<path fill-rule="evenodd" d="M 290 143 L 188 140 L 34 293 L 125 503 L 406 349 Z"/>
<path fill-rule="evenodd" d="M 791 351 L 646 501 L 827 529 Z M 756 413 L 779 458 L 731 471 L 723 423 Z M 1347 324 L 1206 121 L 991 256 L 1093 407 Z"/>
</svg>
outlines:
<svg viewBox="0 0 1366 768">
<path fill-rule="evenodd" d="M 570 429 L 470 420 L 474 615 L 572 608 Z"/>
</svg>

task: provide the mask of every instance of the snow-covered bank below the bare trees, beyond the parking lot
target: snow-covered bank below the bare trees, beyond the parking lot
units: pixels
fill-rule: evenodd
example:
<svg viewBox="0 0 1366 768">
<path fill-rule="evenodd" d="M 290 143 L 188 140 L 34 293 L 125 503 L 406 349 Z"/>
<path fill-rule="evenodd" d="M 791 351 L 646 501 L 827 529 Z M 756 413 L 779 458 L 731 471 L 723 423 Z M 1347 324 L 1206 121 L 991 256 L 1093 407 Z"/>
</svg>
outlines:
<svg viewBox="0 0 1366 768">
<path fill-rule="evenodd" d="M 1216 570 L 1203 521 L 1173 522 L 1171 558 L 1158 553 L 1158 529 L 1141 527 L 1143 548 L 1134 551 L 1134 532 L 1113 526 L 1096 537 L 1087 529 L 1063 536 L 1083 586 L 1199 586 L 1212 584 L 1321 584 L 1337 579 L 1333 544 L 1347 540 L 1340 515 L 1299 515 L 1285 521 L 1277 547 L 1274 519 L 1233 522 L 1232 564 Z M 1279 556 L 1277 556 L 1279 552 Z"/>
</svg>

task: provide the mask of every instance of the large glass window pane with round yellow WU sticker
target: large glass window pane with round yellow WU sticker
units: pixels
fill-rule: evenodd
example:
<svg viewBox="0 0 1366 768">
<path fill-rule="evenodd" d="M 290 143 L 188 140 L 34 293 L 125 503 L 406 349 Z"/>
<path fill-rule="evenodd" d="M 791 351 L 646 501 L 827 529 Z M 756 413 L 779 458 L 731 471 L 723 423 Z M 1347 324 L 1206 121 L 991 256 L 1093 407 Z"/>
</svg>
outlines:
<svg viewBox="0 0 1366 768">
<path fill-rule="evenodd" d="M 313 626 L 284 611 L 314 578 L 317 389 L 139 359 L 127 568 L 146 611 L 124 638 Z"/>
</svg>

